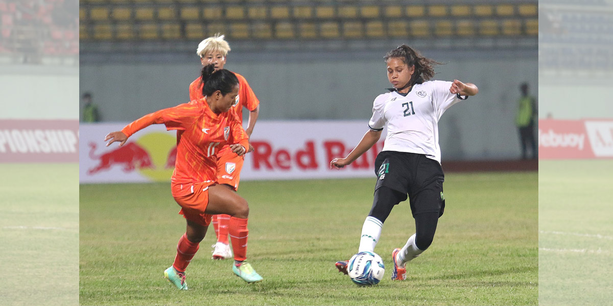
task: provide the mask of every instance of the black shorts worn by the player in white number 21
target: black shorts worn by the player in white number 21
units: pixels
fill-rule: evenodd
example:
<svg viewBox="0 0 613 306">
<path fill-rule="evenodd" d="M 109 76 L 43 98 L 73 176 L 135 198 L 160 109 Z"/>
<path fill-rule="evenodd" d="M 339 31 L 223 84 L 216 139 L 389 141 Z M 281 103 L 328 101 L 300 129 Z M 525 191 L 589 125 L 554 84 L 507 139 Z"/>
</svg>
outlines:
<svg viewBox="0 0 613 306">
<path fill-rule="evenodd" d="M 443 215 L 445 175 L 436 160 L 424 154 L 381 151 L 375 160 L 375 174 L 375 191 L 385 186 L 408 195 L 413 215 L 424 212 Z"/>
</svg>

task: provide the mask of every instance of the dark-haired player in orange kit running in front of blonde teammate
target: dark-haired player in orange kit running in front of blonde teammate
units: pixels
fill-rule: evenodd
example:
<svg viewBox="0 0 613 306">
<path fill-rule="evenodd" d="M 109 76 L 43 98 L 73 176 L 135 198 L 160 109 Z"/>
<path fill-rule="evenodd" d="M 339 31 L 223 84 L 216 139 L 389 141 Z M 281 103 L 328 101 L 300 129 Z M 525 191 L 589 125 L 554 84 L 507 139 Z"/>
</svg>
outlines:
<svg viewBox="0 0 613 306">
<path fill-rule="evenodd" d="M 213 214 L 232 216 L 229 220 L 235 253 L 232 271 L 248 283 L 262 280 L 245 262 L 249 206 L 230 188 L 216 183 L 219 148 L 227 145 L 232 154 L 242 156 L 249 146 L 237 115 L 229 111 L 238 95 L 238 79 L 234 73 L 215 70 L 211 64 L 202 69 L 202 83 L 204 97 L 197 103 L 192 101 L 148 114 L 105 138 L 109 141 L 107 146 L 116 141 L 123 146 L 129 136 L 151 124 L 164 124 L 167 130 L 180 132 L 170 186 L 187 229 L 179 239 L 175 262 L 164 271 L 164 277 L 184 290 L 188 289 L 185 269 L 196 255 Z"/>
</svg>

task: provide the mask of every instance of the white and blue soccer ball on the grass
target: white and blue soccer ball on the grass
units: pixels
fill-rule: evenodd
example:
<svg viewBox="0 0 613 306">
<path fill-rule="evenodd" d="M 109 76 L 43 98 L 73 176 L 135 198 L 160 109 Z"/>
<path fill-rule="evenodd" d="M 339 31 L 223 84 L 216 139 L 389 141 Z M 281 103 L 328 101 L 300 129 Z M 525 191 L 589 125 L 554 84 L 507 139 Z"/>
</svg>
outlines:
<svg viewBox="0 0 613 306">
<path fill-rule="evenodd" d="M 360 252 L 349 259 L 347 272 L 352 282 L 370 286 L 378 284 L 383 279 L 385 266 L 381 256 L 372 252 Z"/>
</svg>

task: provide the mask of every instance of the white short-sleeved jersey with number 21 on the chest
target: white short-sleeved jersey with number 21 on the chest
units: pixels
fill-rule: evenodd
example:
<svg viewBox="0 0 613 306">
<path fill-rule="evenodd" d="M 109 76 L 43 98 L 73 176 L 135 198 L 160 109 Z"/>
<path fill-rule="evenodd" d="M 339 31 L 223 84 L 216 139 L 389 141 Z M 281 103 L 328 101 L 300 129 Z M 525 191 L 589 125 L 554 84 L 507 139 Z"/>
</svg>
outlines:
<svg viewBox="0 0 613 306">
<path fill-rule="evenodd" d="M 466 99 L 449 92 L 451 84 L 427 81 L 413 85 L 406 96 L 392 91 L 376 97 L 368 126 L 379 131 L 387 124 L 383 151 L 424 154 L 440 163 L 438 120 L 447 108 Z"/>
</svg>

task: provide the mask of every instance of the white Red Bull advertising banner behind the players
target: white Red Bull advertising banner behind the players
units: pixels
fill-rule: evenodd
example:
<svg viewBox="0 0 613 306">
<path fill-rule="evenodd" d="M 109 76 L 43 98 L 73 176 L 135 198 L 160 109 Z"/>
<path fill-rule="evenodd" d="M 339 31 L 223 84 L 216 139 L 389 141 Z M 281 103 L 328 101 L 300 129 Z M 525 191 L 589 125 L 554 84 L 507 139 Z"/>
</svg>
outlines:
<svg viewBox="0 0 613 306">
<path fill-rule="evenodd" d="M 104 137 L 126 123 L 81 124 L 81 183 L 170 181 L 176 154 L 176 132 L 152 125 L 132 135 L 123 147 L 105 147 Z M 379 143 L 352 165 L 330 170 L 330 160 L 344 157 L 368 130 L 367 121 L 258 121 L 245 155 L 241 179 L 316 179 L 375 177 Z"/>
</svg>

